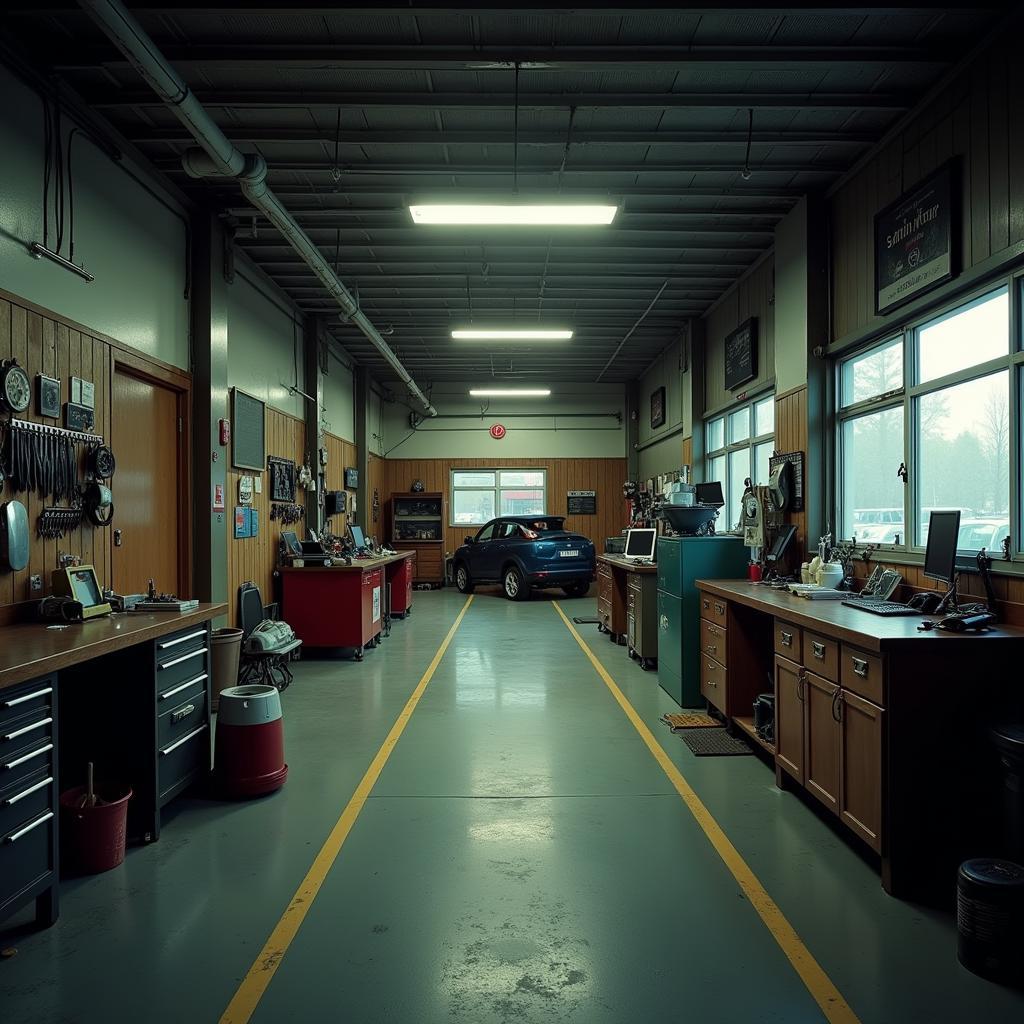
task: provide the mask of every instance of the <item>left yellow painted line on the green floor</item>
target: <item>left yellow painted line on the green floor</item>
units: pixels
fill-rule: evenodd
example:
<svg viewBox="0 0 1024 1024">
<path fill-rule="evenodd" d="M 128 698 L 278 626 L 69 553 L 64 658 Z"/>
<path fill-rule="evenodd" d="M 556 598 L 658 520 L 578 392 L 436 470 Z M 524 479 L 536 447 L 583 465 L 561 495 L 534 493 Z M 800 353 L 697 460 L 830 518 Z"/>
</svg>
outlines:
<svg viewBox="0 0 1024 1024">
<path fill-rule="evenodd" d="M 387 738 L 381 744 L 374 760 L 370 763 L 367 773 L 356 786 L 355 793 L 352 794 L 352 799 L 349 800 L 344 811 L 341 812 L 341 817 L 338 818 L 334 828 L 331 829 L 331 835 L 328 836 L 326 842 L 321 847 L 319 853 L 316 854 L 316 859 L 313 860 L 312 866 L 302 880 L 302 884 L 296 890 L 295 895 L 286 907 L 285 912 L 281 915 L 281 920 L 274 926 L 270 937 L 266 940 L 259 955 L 253 962 L 252 967 L 249 968 L 249 973 L 242 979 L 242 984 L 239 985 L 238 991 L 236 991 L 231 1001 L 227 1005 L 227 1009 L 220 1018 L 220 1024 L 245 1024 L 255 1013 L 256 1007 L 270 984 L 274 972 L 281 966 L 285 953 L 288 952 L 288 947 L 292 944 L 292 940 L 302 927 L 302 922 L 309 912 L 313 900 L 316 899 L 316 894 L 319 892 L 321 886 L 328 876 L 328 871 L 331 870 L 331 866 L 341 852 L 342 845 L 348 838 L 348 834 L 352 830 L 352 825 L 355 824 L 355 819 L 359 816 L 359 811 L 362 810 L 364 804 L 369 799 L 370 792 L 376 784 L 377 779 L 380 778 L 380 774 L 384 770 L 384 765 L 387 764 L 387 759 L 391 756 L 391 752 L 398 742 L 398 738 L 409 724 L 409 720 L 413 717 L 413 712 L 416 711 L 416 706 L 420 702 L 420 697 L 423 696 L 427 684 L 437 671 L 437 666 L 440 665 L 441 658 L 444 656 L 444 652 L 447 650 L 449 644 L 456 634 L 456 630 L 459 629 L 472 603 L 473 598 L 470 597 L 462 606 L 462 610 L 459 612 L 455 623 L 452 624 L 452 629 L 449 630 L 447 636 L 444 637 L 440 647 L 437 648 L 437 653 L 434 654 L 430 665 L 427 666 L 427 671 L 424 672 L 419 683 L 416 684 L 413 695 L 406 701 L 406 707 L 402 708 L 401 714 L 395 719 L 395 723 L 391 726 L 391 731 L 387 734 Z"/>
</svg>

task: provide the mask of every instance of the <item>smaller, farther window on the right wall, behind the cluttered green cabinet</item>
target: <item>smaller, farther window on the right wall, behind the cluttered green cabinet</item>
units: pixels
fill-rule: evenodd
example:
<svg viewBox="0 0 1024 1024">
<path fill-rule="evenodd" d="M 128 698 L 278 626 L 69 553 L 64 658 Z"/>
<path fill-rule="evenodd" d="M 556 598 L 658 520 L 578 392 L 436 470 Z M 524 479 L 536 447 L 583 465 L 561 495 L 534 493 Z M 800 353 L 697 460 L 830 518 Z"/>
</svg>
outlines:
<svg viewBox="0 0 1024 1024">
<path fill-rule="evenodd" d="M 725 518 L 730 525 L 739 519 L 739 500 L 745 481 L 768 482 L 774 435 L 774 395 L 757 398 L 705 424 L 705 479 L 721 481 Z"/>
</svg>

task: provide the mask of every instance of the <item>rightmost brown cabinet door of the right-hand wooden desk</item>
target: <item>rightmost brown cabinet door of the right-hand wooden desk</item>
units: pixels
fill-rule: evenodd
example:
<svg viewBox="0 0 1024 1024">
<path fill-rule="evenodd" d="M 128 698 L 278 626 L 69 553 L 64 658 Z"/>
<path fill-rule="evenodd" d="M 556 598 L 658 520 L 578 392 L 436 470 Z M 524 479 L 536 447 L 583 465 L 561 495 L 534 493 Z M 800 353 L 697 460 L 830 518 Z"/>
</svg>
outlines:
<svg viewBox="0 0 1024 1024">
<path fill-rule="evenodd" d="M 843 690 L 840 713 L 840 817 L 882 853 L 882 730 L 885 712 Z"/>
</svg>

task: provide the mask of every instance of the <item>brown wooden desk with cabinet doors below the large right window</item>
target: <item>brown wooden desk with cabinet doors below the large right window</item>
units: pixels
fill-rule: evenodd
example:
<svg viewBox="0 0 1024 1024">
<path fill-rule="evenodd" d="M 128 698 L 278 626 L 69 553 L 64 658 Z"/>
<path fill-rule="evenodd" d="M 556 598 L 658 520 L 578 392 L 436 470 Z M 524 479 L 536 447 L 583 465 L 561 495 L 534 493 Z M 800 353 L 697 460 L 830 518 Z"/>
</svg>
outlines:
<svg viewBox="0 0 1024 1024">
<path fill-rule="evenodd" d="M 839 601 L 698 580 L 700 689 L 754 736 L 775 693 L 780 787 L 801 788 L 881 858 L 902 898 L 948 900 L 956 865 L 999 849 L 988 728 L 1024 713 L 1024 630 L 920 632 Z"/>
</svg>

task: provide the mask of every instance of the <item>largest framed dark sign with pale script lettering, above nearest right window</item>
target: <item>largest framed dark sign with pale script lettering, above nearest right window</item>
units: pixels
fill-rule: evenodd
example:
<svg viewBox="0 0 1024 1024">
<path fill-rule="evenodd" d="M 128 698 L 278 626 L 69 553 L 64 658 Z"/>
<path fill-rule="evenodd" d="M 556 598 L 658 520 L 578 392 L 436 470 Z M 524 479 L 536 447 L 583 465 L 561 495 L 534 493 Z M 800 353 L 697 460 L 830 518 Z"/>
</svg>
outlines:
<svg viewBox="0 0 1024 1024">
<path fill-rule="evenodd" d="M 955 273 L 952 162 L 874 217 L 874 311 L 887 313 Z"/>
</svg>

